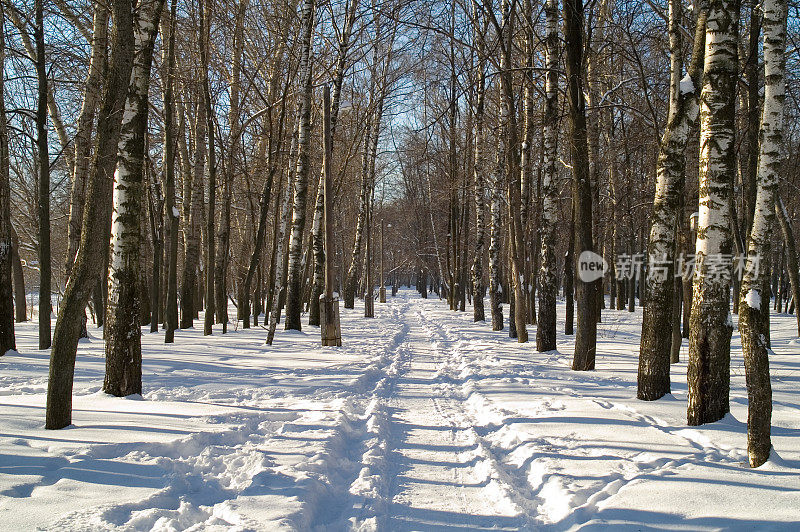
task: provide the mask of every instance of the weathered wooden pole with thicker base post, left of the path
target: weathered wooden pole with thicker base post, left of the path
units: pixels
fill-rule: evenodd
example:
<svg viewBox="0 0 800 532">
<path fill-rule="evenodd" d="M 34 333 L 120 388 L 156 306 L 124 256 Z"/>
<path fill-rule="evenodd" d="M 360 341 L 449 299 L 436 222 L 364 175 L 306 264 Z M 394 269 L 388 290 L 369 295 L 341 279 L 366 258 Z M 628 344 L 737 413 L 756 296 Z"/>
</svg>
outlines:
<svg viewBox="0 0 800 532">
<path fill-rule="evenodd" d="M 333 295 L 333 184 L 331 182 L 331 90 L 325 85 L 323 90 L 323 161 L 322 168 L 325 174 L 323 181 L 323 195 L 325 210 L 323 223 L 325 224 L 325 292 L 322 294 L 320 305 L 320 333 L 322 345 L 342 345 L 342 326 L 339 320 L 339 299 Z"/>
</svg>

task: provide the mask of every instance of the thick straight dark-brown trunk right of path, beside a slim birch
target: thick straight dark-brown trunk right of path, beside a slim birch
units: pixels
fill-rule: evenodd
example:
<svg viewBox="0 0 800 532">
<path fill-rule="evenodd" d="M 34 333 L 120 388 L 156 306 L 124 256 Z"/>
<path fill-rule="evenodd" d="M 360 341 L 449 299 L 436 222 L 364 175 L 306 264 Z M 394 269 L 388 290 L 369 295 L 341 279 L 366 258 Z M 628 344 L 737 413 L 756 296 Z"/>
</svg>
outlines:
<svg viewBox="0 0 800 532">
<path fill-rule="evenodd" d="M 583 1 L 564 0 L 564 40 L 572 151 L 573 207 L 575 216 L 575 254 L 593 250 L 592 188 L 589 176 L 589 147 L 586 137 L 586 103 L 583 90 Z M 599 282 L 576 277 L 578 330 L 575 335 L 574 370 L 594 369 L 597 348 L 597 300 Z"/>
</svg>

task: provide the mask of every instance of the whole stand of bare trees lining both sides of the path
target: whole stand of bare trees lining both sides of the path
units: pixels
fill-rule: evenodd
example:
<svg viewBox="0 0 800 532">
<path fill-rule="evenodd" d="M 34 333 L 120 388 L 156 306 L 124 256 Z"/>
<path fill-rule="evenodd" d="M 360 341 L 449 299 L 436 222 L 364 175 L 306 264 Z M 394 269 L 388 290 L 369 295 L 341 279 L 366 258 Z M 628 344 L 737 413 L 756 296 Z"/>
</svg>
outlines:
<svg viewBox="0 0 800 532">
<path fill-rule="evenodd" d="M 595 367 L 608 302 L 633 310 L 638 297 L 639 398 L 669 393 L 689 337 L 691 424 L 728 411 L 733 301 L 751 463 L 768 456 L 767 302 L 800 298 L 797 176 L 781 164 L 796 142 L 796 121 L 783 126 L 796 55 L 785 54 L 785 1 L 0 5 L 0 353 L 14 348 L 12 271 L 25 319 L 27 270 L 40 348 L 52 338 L 48 428 L 71 422 L 87 305 L 104 325 L 104 390 L 141 393 L 142 324 L 171 343 L 200 310 L 206 334 L 264 314 L 271 343 L 284 313 L 286 328 L 306 311 L 319 324 L 328 260 L 345 307 L 361 296 L 369 317 L 380 255 L 394 286 L 413 277 L 453 310 L 471 302 L 476 321 L 488 291 L 492 327 L 504 328 L 507 304 L 510 335 L 527 342 L 536 324 L 539 351 L 557 347 L 562 290 L 575 370 Z M 577 275 L 585 252 L 612 265 L 663 257 L 671 274 L 690 251 L 693 280 Z M 712 275 L 704 259 L 734 252 L 746 256 L 741 283 Z M 53 254 L 65 259 L 51 271 Z"/>
</svg>

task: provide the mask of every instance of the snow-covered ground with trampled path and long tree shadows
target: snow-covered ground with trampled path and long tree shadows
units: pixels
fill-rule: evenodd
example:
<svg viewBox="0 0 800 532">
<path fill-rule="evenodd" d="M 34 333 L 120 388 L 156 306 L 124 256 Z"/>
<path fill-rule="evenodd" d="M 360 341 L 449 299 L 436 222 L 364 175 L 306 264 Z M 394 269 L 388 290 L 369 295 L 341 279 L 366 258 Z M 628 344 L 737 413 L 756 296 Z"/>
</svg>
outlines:
<svg viewBox="0 0 800 532">
<path fill-rule="evenodd" d="M 145 332 L 143 399 L 100 391 L 92 331 L 61 431 L 22 325 L 0 357 L 0 529 L 800 530 L 793 316 L 772 326 L 775 452 L 751 470 L 736 333 L 731 414 L 687 427 L 685 362 L 671 396 L 635 399 L 640 312 L 605 311 L 578 373 L 570 337 L 536 353 L 411 290 L 375 309 L 343 310 L 342 348 L 315 327 L 272 347 L 261 327 Z"/>
</svg>

